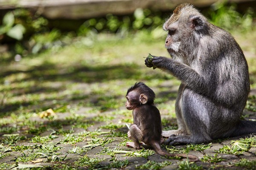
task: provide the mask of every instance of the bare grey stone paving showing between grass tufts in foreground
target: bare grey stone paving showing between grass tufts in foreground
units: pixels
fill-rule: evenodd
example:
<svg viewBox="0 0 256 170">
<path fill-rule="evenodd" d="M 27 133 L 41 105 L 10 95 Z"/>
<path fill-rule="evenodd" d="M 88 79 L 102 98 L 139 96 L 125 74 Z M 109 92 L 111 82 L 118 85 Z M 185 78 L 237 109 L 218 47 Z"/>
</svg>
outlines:
<svg viewBox="0 0 256 170">
<path fill-rule="evenodd" d="M 87 110 L 88 110 L 88 108 L 80 108 L 80 110 L 77 111 L 77 113 L 84 114 Z M 64 120 L 65 117 L 70 116 L 70 113 L 56 113 L 56 114 L 58 116 L 59 121 Z M 108 114 L 108 113 L 106 112 L 106 114 Z M 247 115 L 250 115 L 249 117 L 247 117 L 247 119 L 255 119 L 256 118 L 255 113 L 247 112 Z M 30 119 L 36 120 L 36 119 L 40 119 L 40 118 L 32 117 Z M 88 130 L 94 131 L 100 125 L 102 125 L 102 122 L 96 123 L 95 125 L 89 127 Z M 69 127 L 66 127 L 66 128 L 69 129 Z M 75 128 L 73 130 L 74 130 L 73 134 L 84 133 L 84 129 L 82 129 L 82 128 Z M 109 130 L 102 130 L 102 131 L 109 131 Z M 127 128 L 124 125 L 124 127 L 119 128 L 115 131 L 120 131 L 120 132 L 126 133 Z M 41 136 L 49 136 L 50 133 L 52 133 L 52 130 L 49 130 L 49 131 L 41 134 Z M 103 135 L 99 135 L 97 137 L 105 140 L 107 136 L 108 136 L 108 133 L 103 134 Z M 205 155 L 209 155 L 209 156 L 214 157 L 215 154 L 216 154 L 216 151 L 223 148 L 224 145 L 227 145 L 227 146 L 231 147 L 231 141 L 239 140 L 241 137 L 245 138 L 246 136 L 238 136 L 238 137 L 235 137 L 235 138 L 230 138 L 230 139 L 222 140 L 222 141 L 219 141 L 219 142 L 213 142 L 212 144 L 209 144 L 210 147 L 207 148 L 207 149 L 200 150 L 200 151 L 191 150 L 191 151 L 189 151 L 189 153 L 198 156 L 199 159 L 202 159 Z M 54 144 L 57 147 L 61 147 L 62 149 L 58 150 L 58 152 L 57 152 L 57 153 L 59 153 L 59 155 L 57 155 L 57 154 L 56 155 L 59 159 L 66 156 L 66 159 L 64 159 L 63 162 L 67 165 L 70 165 L 70 166 L 72 166 L 74 164 L 74 162 L 78 161 L 83 156 L 87 156 L 87 158 L 89 158 L 89 159 L 103 159 L 103 160 L 99 161 L 99 164 L 96 163 L 96 164 L 98 164 L 97 167 L 101 167 L 101 168 L 111 166 L 111 164 L 112 164 L 112 167 L 113 167 L 113 158 L 115 158 L 115 161 L 122 161 L 122 162 L 124 162 L 125 160 L 128 160 L 127 164 L 125 164 L 126 167 L 123 168 L 123 169 L 128 169 L 128 170 L 129 169 L 133 170 L 136 167 L 147 163 L 148 161 L 154 161 L 154 162 L 157 162 L 157 163 L 160 163 L 160 162 L 163 162 L 163 161 L 172 162 L 172 164 L 167 165 L 165 167 L 162 167 L 161 169 L 163 169 L 163 170 L 176 170 L 179 167 L 180 162 L 182 162 L 182 160 L 167 159 L 163 156 L 159 156 L 159 155 L 154 154 L 154 153 L 151 153 L 151 154 L 149 154 L 149 156 L 144 156 L 144 157 L 131 156 L 131 155 L 127 156 L 126 154 L 121 154 L 121 153 L 114 153 L 114 154 L 110 153 L 108 155 L 107 154 L 101 154 L 102 150 L 104 150 L 104 148 L 106 148 L 106 147 L 108 147 L 112 151 L 113 150 L 135 151 L 134 149 L 127 148 L 127 147 L 124 146 L 124 144 L 122 144 L 122 142 L 127 137 L 108 137 L 108 139 L 112 139 L 112 142 L 110 142 L 108 144 L 105 144 L 105 145 L 102 144 L 101 146 L 94 145 L 92 147 L 87 147 L 88 150 L 84 151 L 82 153 L 76 153 L 76 152 L 71 153 L 70 150 L 74 150 L 74 148 L 76 148 L 76 147 L 82 148 L 84 146 L 87 146 L 88 142 L 91 140 L 90 137 L 86 137 L 86 138 L 84 138 L 83 141 L 77 142 L 76 144 L 67 144 L 67 143 L 61 144 L 60 142 L 63 140 L 63 138 L 64 138 L 63 136 L 59 135 L 58 138 L 55 138 L 55 139 L 51 140 L 49 143 L 47 142 L 47 144 L 49 144 L 49 145 Z M 254 138 L 254 140 L 255 140 L 255 138 Z M 40 143 L 30 143 L 30 142 L 29 143 L 27 143 L 27 142 L 23 142 L 23 143 L 22 142 L 17 142 L 15 145 L 22 145 L 22 144 L 28 145 L 28 146 L 29 145 L 36 145 L 36 144 L 41 145 Z M 2 145 L 1 147 L 2 147 L 1 149 L 3 149 L 4 147 L 7 148 L 8 145 L 5 144 L 5 145 Z M 180 148 L 185 147 L 185 146 L 184 145 L 181 145 L 181 146 L 177 145 L 175 147 L 176 147 L 176 149 L 180 149 Z M 29 154 L 32 154 L 32 153 L 35 153 L 35 152 L 36 152 L 35 150 L 32 150 L 32 151 L 31 150 L 30 151 L 25 150 L 22 153 L 17 152 L 17 151 L 11 151 L 11 152 L 9 152 L 10 155 L 0 159 L 0 162 L 1 163 L 6 162 L 7 164 L 15 164 L 14 160 L 17 159 L 17 156 L 22 156 L 22 154 L 29 155 Z M 3 154 L 3 153 L 4 152 L 2 150 L 1 154 Z M 46 166 L 46 167 L 52 167 L 56 164 L 56 162 L 47 161 L 47 159 L 49 159 L 49 158 L 44 158 L 43 157 L 41 160 L 39 160 L 38 163 L 32 163 L 32 161 L 28 161 L 28 162 L 25 162 L 25 163 L 22 163 L 22 164 L 41 165 L 41 166 Z M 234 169 L 253 169 L 252 167 L 249 167 L 249 168 L 248 167 L 247 168 L 237 167 L 237 166 L 234 166 L 234 164 L 239 162 L 239 160 L 241 160 L 241 159 L 247 159 L 247 160 L 252 161 L 252 162 L 256 161 L 256 147 L 251 147 L 248 151 L 243 152 L 238 156 L 236 156 L 234 154 L 218 153 L 218 159 L 222 159 L 222 160 L 221 161 L 215 161 L 213 163 L 200 161 L 200 162 L 196 162 L 195 166 L 201 166 L 201 169 L 210 169 L 210 168 L 212 168 L 212 169 L 230 169 L 230 170 L 234 170 Z M 184 160 L 185 159 L 183 159 L 183 163 L 186 162 Z M 79 167 L 79 169 L 87 169 L 87 168 L 90 168 L 90 167 L 94 167 L 93 169 L 96 169 L 96 167 L 95 167 L 96 164 L 91 162 L 91 164 L 89 164 L 87 166 L 76 166 L 76 168 Z M 255 163 L 254 163 L 254 165 L 255 165 Z M 191 169 L 191 168 L 192 167 L 189 167 L 188 169 Z M 122 169 L 122 168 L 119 167 L 117 169 Z M 152 169 L 155 169 L 155 168 L 153 167 Z"/>
</svg>

